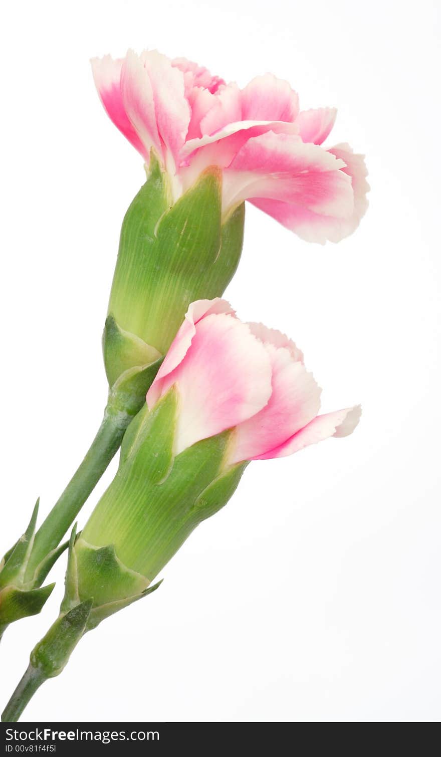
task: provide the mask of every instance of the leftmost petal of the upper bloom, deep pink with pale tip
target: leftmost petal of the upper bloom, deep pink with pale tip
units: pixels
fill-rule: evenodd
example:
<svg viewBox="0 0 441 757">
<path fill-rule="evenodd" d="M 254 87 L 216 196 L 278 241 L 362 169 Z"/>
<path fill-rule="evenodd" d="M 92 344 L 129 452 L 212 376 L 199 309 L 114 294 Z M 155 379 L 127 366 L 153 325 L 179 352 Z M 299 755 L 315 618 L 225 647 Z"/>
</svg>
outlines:
<svg viewBox="0 0 441 757">
<path fill-rule="evenodd" d="M 123 105 L 120 87 L 123 60 L 113 61 L 110 55 L 104 55 L 104 58 L 92 58 L 91 64 L 98 95 L 100 95 L 101 102 L 110 120 L 113 121 L 117 129 L 120 129 L 120 132 L 131 142 L 133 147 L 141 155 L 147 157 L 144 145 L 133 128 Z"/>
</svg>

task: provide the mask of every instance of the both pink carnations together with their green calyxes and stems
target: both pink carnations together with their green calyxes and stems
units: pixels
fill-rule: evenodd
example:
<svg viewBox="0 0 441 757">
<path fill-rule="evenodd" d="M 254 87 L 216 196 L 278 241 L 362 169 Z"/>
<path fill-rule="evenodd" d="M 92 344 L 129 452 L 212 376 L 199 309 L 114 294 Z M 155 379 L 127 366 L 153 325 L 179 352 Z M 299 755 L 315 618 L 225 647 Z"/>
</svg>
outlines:
<svg viewBox="0 0 441 757">
<path fill-rule="evenodd" d="M 92 67 L 147 180 L 121 229 L 103 336 L 104 419 L 45 522 L 36 530 L 37 503 L 0 562 L 0 637 L 40 612 L 64 534 L 121 447 L 120 463 L 82 531 L 73 527 L 60 615 L 4 721 L 61 673 L 85 632 L 159 586 L 151 582 L 228 503 L 250 461 L 347 436 L 361 413 L 319 415 L 320 389 L 293 341 L 241 322 L 222 299 L 241 257 L 245 201 L 307 241 L 339 241 L 358 226 L 363 158 L 346 144 L 322 146 L 335 109 L 300 111 L 296 92 L 269 73 L 240 89 L 157 51 Z"/>
</svg>

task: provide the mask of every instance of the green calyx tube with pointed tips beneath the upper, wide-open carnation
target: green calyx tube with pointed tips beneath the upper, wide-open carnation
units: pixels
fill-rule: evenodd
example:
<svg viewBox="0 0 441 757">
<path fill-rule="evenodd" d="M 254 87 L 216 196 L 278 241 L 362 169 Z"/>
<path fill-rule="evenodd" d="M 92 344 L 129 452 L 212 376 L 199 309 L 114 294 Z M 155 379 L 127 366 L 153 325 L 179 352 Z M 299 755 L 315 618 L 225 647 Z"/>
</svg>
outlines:
<svg viewBox="0 0 441 757">
<path fill-rule="evenodd" d="M 243 234 L 244 204 L 222 223 L 219 168 L 203 171 L 172 204 L 169 178 L 154 162 L 123 220 L 108 313 L 120 329 L 165 354 L 188 305 L 222 295 Z M 110 379 L 115 374 L 110 370 Z"/>
</svg>

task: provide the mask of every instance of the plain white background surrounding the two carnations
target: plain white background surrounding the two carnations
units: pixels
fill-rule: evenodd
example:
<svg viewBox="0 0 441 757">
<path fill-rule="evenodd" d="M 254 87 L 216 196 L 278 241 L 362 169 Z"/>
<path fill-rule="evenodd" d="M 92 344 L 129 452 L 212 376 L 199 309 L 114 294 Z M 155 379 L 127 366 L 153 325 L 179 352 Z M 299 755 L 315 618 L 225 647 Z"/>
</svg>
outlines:
<svg viewBox="0 0 441 757">
<path fill-rule="evenodd" d="M 438 721 L 439 10 L 436 2 L 24 2 L 3 10 L 0 550 L 48 512 L 101 419 L 101 329 L 138 154 L 93 55 L 185 55 L 241 86 L 270 70 L 339 108 L 371 207 L 308 245 L 248 207 L 227 295 L 289 333 L 356 433 L 254 463 L 163 570 L 88 634 L 23 720 Z M 329 144 L 332 144 L 332 139 Z M 79 517 L 92 509 L 116 461 Z M 2 706 L 57 613 L 8 630 Z"/>
</svg>

